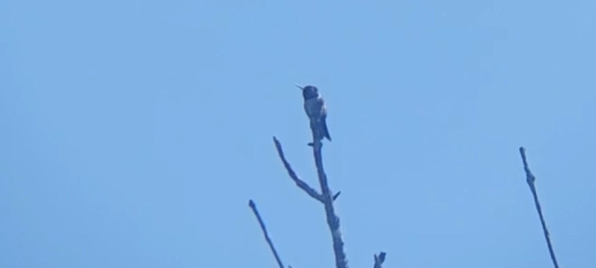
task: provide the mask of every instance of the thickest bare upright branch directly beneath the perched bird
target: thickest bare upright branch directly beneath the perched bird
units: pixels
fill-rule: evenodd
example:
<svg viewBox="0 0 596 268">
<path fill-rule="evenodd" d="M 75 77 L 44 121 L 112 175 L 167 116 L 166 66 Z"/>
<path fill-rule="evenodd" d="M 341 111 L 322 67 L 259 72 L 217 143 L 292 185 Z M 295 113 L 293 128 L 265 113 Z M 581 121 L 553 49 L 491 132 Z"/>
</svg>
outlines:
<svg viewBox="0 0 596 268">
<path fill-rule="evenodd" d="M 319 184 L 321 185 L 321 194 L 323 204 L 325 205 L 325 218 L 327 219 L 327 225 L 331 231 L 331 239 L 333 239 L 333 252 L 336 258 L 336 268 L 347 268 L 346 253 L 343 251 L 343 239 L 342 232 L 340 232 L 339 217 L 335 213 L 333 207 L 333 197 L 331 196 L 331 190 L 327 182 L 327 174 L 323 169 L 323 160 L 321 156 L 321 140 L 317 138 L 315 129 L 312 129 L 312 151 L 315 157 L 316 173 L 319 177 Z"/>
</svg>

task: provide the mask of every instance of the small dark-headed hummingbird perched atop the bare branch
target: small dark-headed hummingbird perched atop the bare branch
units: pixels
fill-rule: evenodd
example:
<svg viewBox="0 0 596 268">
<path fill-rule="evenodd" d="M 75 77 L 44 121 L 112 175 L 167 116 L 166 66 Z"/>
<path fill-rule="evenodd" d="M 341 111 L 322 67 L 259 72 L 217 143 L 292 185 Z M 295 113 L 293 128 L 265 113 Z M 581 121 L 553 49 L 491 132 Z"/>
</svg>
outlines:
<svg viewBox="0 0 596 268">
<path fill-rule="evenodd" d="M 323 138 L 327 138 L 331 141 L 329 136 L 329 130 L 327 130 L 327 108 L 325 107 L 325 101 L 319 95 L 319 90 L 316 86 L 302 86 L 296 85 L 299 89 L 302 89 L 302 96 L 304 97 L 304 110 L 306 115 L 311 121 L 311 129 L 315 132 L 315 136 L 319 141 Z"/>
</svg>

